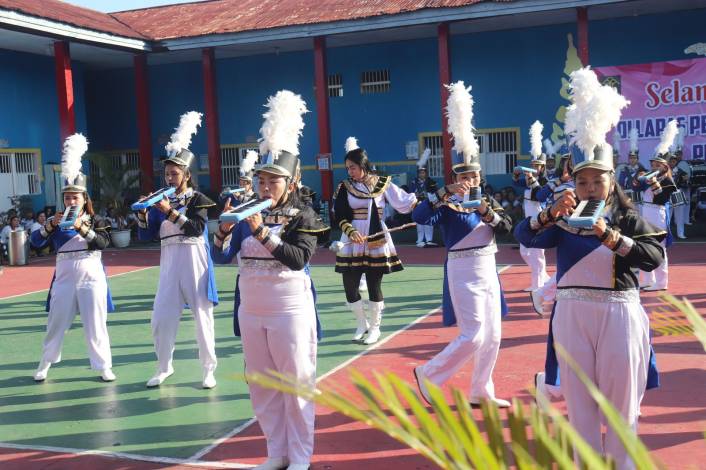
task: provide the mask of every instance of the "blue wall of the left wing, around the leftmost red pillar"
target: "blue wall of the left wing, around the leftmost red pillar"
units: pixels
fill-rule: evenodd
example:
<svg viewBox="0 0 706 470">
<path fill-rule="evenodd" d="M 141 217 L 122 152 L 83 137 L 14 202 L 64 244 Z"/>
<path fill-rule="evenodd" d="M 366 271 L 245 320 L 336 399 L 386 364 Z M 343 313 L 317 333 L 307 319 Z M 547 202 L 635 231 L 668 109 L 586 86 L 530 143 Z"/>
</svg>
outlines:
<svg viewBox="0 0 706 470">
<path fill-rule="evenodd" d="M 61 162 L 59 111 L 54 80 L 54 58 L 0 49 L 0 138 L 11 148 L 39 148 L 42 164 Z M 76 129 L 86 133 L 84 67 L 74 61 Z M 42 182 L 42 191 L 44 183 Z M 34 210 L 44 207 L 44 196 L 32 198 Z"/>
</svg>

